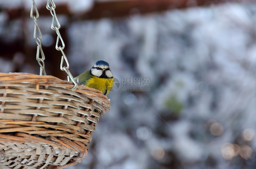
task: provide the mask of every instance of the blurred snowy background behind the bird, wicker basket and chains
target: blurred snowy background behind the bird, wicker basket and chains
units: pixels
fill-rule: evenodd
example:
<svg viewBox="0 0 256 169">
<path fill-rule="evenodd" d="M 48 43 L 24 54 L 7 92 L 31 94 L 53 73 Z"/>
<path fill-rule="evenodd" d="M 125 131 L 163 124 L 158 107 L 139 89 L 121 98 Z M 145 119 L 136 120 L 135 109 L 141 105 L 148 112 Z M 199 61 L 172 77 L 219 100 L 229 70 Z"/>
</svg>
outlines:
<svg viewBox="0 0 256 169">
<path fill-rule="evenodd" d="M 66 79 L 46 0 L 35 2 L 46 73 Z M 93 0 L 55 2 L 71 73 L 105 60 L 121 85 L 69 169 L 256 168 L 255 3 L 97 18 L 82 17 Z M 0 1 L 0 72 L 39 73 L 30 8 Z M 123 91 L 123 77 L 150 77 L 150 91 Z"/>
</svg>

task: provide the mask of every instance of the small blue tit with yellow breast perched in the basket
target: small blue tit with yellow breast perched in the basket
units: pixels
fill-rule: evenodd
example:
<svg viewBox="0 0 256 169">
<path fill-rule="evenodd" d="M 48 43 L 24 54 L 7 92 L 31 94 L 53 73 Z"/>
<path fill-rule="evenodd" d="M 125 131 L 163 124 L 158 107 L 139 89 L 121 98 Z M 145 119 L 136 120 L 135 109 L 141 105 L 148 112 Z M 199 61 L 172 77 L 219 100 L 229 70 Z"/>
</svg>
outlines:
<svg viewBox="0 0 256 169">
<path fill-rule="evenodd" d="M 114 84 L 109 64 L 103 60 L 97 61 L 90 70 L 85 71 L 74 79 L 78 84 L 102 91 L 104 95 L 109 93 Z"/>
</svg>

